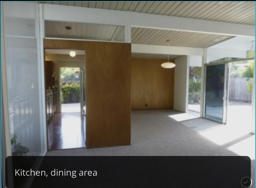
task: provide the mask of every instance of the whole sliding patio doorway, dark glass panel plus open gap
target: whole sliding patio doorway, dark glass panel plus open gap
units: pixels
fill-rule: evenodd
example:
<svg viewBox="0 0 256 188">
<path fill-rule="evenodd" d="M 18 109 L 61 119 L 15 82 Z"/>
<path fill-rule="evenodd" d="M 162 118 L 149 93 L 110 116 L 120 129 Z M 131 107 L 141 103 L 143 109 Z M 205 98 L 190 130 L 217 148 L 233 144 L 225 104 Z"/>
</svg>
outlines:
<svg viewBox="0 0 256 188">
<path fill-rule="evenodd" d="M 253 67 L 254 57 L 205 65 L 204 118 L 250 129 Z"/>
</svg>

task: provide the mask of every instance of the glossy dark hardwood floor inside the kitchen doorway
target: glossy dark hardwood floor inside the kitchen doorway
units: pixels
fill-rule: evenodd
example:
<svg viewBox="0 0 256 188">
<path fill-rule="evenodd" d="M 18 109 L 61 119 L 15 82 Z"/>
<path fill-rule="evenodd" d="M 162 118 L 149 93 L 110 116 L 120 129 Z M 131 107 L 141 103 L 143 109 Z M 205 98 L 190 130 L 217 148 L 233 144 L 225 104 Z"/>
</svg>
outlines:
<svg viewBox="0 0 256 188">
<path fill-rule="evenodd" d="M 48 150 L 85 147 L 85 116 L 80 112 L 54 114 L 47 133 Z"/>
</svg>

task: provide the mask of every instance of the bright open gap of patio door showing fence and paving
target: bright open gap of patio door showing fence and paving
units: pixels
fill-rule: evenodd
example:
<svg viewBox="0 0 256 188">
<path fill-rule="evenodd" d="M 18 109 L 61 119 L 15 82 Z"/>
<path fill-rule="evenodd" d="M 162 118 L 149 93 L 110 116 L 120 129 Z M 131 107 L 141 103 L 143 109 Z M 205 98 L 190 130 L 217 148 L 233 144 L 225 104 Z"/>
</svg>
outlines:
<svg viewBox="0 0 256 188">
<path fill-rule="evenodd" d="M 251 129 L 253 67 L 254 59 L 229 63 L 227 124 Z"/>
</svg>

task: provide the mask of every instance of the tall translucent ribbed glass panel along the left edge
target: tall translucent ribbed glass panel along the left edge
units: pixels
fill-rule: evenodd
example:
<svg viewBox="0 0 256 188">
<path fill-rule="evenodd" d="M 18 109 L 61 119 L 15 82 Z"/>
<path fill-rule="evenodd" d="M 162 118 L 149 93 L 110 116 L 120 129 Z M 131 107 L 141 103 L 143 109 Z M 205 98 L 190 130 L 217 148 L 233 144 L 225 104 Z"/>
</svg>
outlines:
<svg viewBox="0 0 256 188">
<path fill-rule="evenodd" d="M 9 126 L 13 155 L 43 153 L 36 3 L 4 2 Z"/>
</svg>

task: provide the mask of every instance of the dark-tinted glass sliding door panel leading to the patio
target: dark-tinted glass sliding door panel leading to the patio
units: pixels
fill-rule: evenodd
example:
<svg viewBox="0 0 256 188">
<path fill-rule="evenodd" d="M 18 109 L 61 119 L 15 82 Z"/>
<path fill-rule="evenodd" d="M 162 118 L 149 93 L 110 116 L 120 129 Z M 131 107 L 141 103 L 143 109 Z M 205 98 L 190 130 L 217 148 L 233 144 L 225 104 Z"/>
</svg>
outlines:
<svg viewBox="0 0 256 188">
<path fill-rule="evenodd" d="M 228 63 L 214 63 L 205 66 L 204 118 L 226 124 Z"/>
</svg>

